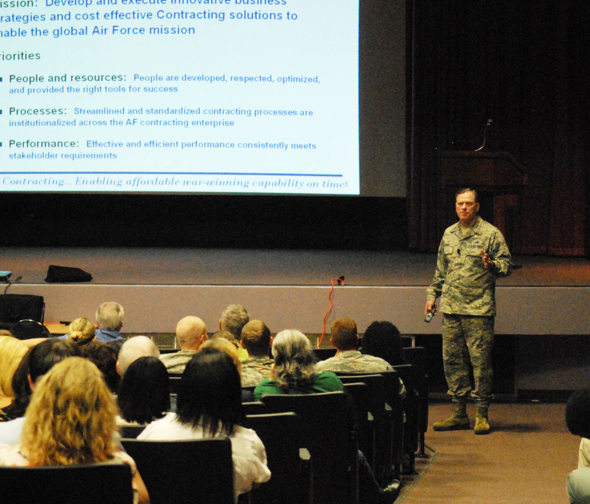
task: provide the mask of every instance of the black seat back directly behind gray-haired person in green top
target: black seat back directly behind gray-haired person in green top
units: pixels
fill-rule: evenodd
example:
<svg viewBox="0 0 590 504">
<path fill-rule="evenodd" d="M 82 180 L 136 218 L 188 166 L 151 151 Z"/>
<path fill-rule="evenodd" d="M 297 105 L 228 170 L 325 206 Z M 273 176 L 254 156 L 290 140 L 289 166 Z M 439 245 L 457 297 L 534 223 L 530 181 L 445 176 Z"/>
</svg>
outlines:
<svg viewBox="0 0 590 504">
<path fill-rule="evenodd" d="M 358 443 L 355 406 L 344 392 L 323 394 L 265 394 L 269 413 L 293 411 L 299 417 L 299 447 L 307 448 L 313 463 L 314 502 L 358 503 Z"/>
</svg>

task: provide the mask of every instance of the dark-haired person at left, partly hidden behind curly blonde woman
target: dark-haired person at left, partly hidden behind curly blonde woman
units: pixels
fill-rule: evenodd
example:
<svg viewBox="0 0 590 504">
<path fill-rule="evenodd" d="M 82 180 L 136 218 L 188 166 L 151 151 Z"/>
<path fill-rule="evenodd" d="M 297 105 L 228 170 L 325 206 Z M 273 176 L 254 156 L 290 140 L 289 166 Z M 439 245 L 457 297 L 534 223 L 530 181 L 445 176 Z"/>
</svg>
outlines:
<svg viewBox="0 0 590 504">
<path fill-rule="evenodd" d="M 12 377 L 14 401 L 4 408 L 4 412 L 12 420 L 0 424 L 0 443 L 14 444 L 19 442 L 18 439 L 24 423 L 22 417 L 25 415 L 37 380 L 58 362 L 71 356 L 80 355 L 80 350 L 76 345 L 58 338 L 46 339 L 25 354 Z M 14 441 L 12 441 L 14 436 L 11 433 L 17 434 Z"/>
</svg>

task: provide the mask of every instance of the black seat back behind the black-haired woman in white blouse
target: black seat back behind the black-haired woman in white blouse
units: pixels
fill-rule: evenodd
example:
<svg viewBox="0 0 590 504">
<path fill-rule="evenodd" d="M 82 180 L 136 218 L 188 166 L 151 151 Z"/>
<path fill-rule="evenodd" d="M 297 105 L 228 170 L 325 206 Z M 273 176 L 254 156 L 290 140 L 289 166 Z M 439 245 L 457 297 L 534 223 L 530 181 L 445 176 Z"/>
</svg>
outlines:
<svg viewBox="0 0 590 504">
<path fill-rule="evenodd" d="M 121 443 L 137 464 L 151 504 L 234 504 L 229 438 Z"/>
</svg>

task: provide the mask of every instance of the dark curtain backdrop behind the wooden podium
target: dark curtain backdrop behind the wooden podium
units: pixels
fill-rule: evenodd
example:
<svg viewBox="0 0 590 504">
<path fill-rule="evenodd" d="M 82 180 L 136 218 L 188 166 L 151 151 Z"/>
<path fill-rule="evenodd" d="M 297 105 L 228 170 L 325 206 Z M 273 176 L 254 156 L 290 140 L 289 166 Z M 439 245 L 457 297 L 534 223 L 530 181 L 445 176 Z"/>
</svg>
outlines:
<svg viewBox="0 0 590 504">
<path fill-rule="evenodd" d="M 582 256 L 590 217 L 590 2 L 408 1 L 409 247 L 452 224 L 441 150 L 507 150 L 529 175 L 513 253 Z"/>
</svg>

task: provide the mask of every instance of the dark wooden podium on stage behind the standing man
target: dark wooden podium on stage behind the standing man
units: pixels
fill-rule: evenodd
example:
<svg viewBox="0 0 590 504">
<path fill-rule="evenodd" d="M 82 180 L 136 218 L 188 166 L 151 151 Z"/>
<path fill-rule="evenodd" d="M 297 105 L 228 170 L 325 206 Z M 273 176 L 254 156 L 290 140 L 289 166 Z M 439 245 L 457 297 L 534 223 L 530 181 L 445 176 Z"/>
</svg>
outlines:
<svg viewBox="0 0 590 504">
<path fill-rule="evenodd" d="M 518 222 L 522 215 L 522 189 L 529 183 L 525 166 L 516 161 L 510 152 L 481 150 L 443 151 L 440 163 L 442 215 L 448 217 L 447 222 L 457 221 L 455 192 L 471 187 L 480 195 L 480 201 L 491 201 L 491 208 L 483 210 L 492 216 L 491 223 L 502 232 L 509 248 L 516 251 Z"/>
</svg>

